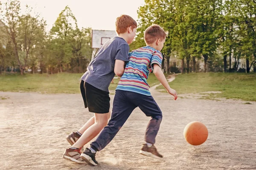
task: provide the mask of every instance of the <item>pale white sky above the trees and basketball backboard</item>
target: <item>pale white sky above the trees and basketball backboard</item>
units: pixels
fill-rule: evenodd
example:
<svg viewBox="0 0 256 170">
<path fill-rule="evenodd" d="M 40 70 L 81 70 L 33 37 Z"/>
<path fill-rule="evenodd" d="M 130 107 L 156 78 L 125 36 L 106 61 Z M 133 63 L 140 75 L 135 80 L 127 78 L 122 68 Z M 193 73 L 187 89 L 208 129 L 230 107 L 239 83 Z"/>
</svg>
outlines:
<svg viewBox="0 0 256 170">
<path fill-rule="evenodd" d="M 7 0 L 0 0 L 5 3 Z M 79 28 L 92 27 L 99 30 L 115 30 L 115 20 L 127 14 L 137 20 L 137 9 L 144 0 L 20 0 L 22 12 L 26 4 L 33 7 L 47 21 L 47 30 L 52 28 L 58 14 L 69 6 Z"/>
</svg>

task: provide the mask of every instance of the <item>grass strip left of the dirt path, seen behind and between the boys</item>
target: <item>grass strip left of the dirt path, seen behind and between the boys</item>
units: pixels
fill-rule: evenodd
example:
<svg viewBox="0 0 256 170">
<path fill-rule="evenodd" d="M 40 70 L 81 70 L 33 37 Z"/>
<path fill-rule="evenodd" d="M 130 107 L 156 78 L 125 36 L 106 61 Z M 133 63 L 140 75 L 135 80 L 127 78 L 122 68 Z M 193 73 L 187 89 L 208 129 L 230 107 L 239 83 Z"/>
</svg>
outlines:
<svg viewBox="0 0 256 170">
<path fill-rule="evenodd" d="M 1 75 L 0 91 L 12 92 L 40 92 L 48 94 L 56 93 L 80 93 L 79 82 L 83 74 L 25 74 L 25 75 Z M 167 75 L 166 75 L 167 76 Z M 109 90 L 115 90 L 119 79 L 109 86 Z M 150 86 L 159 84 L 154 74 L 148 78 Z"/>
</svg>

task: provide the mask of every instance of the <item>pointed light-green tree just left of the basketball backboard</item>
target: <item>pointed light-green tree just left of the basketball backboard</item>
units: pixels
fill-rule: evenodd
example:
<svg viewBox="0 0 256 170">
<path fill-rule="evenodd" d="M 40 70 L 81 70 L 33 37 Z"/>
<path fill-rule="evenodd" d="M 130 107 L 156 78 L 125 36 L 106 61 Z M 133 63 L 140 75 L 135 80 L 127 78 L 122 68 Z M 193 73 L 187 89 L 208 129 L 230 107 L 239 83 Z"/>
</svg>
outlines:
<svg viewBox="0 0 256 170">
<path fill-rule="evenodd" d="M 47 42 L 47 65 L 50 69 L 84 72 L 92 53 L 91 28 L 77 26 L 76 17 L 66 6 L 59 14 Z"/>
</svg>

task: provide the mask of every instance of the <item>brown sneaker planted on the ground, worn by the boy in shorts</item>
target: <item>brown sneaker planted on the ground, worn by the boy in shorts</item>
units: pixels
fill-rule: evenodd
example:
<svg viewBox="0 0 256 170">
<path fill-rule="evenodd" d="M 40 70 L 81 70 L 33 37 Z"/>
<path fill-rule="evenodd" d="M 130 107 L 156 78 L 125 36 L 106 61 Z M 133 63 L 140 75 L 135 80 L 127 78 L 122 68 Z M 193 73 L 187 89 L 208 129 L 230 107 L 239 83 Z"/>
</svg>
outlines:
<svg viewBox="0 0 256 170">
<path fill-rule="evenodd" d="M 83 159 L 81 159 L 80 155 L 81 152 L 79 149 L 68 148 L 65 150 L 62 157 L 64 159 L 74 161 L 79 164 L 86 164 L 86 162 Z"/>
</svg>

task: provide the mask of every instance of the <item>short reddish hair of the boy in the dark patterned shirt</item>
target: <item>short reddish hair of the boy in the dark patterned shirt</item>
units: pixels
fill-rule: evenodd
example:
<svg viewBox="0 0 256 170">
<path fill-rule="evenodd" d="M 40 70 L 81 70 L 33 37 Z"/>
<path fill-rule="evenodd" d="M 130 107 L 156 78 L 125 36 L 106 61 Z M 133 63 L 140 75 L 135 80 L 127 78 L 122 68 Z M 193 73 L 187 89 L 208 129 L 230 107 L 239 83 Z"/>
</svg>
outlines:
<svg viewBox="0 0 256 170">
<path fill-rule="evenodd" d="M 137 28 L 137 22 L 129 15 L 121 15 L 116 18 L 116 33 L 123 34 L 127 31 L 127 28 Z"/>
</svg>

